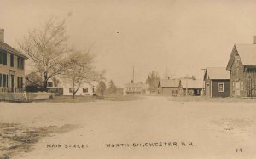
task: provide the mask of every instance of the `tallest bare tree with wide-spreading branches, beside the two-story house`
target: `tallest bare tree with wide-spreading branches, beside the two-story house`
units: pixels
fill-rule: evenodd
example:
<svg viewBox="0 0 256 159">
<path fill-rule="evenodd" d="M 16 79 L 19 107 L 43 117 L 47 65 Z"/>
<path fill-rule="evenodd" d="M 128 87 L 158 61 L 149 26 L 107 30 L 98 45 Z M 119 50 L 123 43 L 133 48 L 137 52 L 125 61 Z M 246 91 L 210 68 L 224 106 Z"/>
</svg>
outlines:
<svg viewBox="0 0 256 159">
<path fill-rule="evenodd" d="M 63 59 L 67 53 L 67 39 L 67 18 L 51 18 L 29 31 L 19 42 L 21 52 L 29 56 L 35 72 L 43 77 L 44 89 L 50 78 L 57 77 L 65 70 Z"/>
</svg>

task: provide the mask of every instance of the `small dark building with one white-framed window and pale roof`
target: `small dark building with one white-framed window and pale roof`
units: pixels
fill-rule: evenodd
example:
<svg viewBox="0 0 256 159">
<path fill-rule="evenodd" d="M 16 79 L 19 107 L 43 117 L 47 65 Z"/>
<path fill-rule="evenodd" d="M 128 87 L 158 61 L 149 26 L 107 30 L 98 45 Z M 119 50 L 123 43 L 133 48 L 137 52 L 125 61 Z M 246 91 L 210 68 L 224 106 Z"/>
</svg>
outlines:
<svg viewBox="0 0 256 159">
<path fill-rule="evenodd" d="M 205 71 L 205 95 L 207 97 L 230 96 L 230 73 L 224 67 L 209 67 Z"/>
</svg>

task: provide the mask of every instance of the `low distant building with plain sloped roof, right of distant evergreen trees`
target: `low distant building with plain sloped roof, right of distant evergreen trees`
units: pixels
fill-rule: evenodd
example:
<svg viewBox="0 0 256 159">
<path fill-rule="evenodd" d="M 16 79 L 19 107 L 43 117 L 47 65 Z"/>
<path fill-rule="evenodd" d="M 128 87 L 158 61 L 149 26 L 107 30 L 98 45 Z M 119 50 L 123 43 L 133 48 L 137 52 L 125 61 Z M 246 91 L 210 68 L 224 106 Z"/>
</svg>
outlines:
<svg viewBox="0 0 256 159">
<path fill-rule="evenodd" d="M 177 96 L 182 92 L 180 79 L 162 79 L 158 88 L 160 89 L 160 94 L 164 95 Z"/>
</svg>

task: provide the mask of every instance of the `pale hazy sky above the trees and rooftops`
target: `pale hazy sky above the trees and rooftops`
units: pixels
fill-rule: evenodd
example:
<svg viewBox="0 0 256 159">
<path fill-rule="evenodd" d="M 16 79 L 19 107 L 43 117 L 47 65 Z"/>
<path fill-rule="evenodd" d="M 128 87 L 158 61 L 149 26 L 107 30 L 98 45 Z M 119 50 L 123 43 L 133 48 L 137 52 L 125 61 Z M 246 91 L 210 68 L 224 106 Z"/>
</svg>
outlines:
<svg viewBox="0 0 256 159">
<path fill-rule="evenodd" d="M 73 46 L 92 46 L 97 70 L 119 87 L 145 82 L 149 72 L 196 76 L 225 67 L 235 43 L 253 43 L 256 1 L 241 0 L 0 0 L 0 28 L 14 48 L 49 17 L 72 16 Z"/>
</svg>

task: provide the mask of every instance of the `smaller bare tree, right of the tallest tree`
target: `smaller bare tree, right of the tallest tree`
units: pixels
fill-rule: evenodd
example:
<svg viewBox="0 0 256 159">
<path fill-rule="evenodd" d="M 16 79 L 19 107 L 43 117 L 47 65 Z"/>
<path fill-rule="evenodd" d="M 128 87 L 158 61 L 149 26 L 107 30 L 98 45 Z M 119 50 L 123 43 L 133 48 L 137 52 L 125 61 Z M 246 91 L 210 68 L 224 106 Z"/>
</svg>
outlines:
<svg viewBox="0 0 256 159">
<path fill-rule="evenodd" d="M 81 84 L 98 81 L 101 74 L 95 71 L 93 64 L 94 56 L 89 54 L 90 49 L 81 52 L 73 48 L 71 54 L 67 57 L 67 69 L 63 77 L 67 82 L 72 83 L 73 98 L 78 92 Z"/>
</svg>

